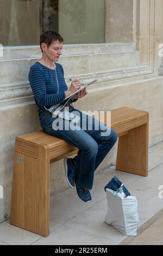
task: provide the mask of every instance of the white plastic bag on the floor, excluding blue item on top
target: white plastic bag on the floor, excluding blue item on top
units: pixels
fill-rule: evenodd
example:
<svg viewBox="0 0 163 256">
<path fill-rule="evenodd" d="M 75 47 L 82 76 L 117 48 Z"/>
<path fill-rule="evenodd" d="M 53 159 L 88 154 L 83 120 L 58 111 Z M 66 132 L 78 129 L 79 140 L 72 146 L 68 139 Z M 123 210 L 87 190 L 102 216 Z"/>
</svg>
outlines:
<svg viewBox="0 0 163 256">
<path fill-rule="evenodd" d="M 124 235 L 136 236 L 137 228 L 139 228 L 136 197 L 121 198 L 114 196 L 114 193 L 115 191 L 106 188 L 108 212 L 105 216 L 105 222 Z"/>
</svg>

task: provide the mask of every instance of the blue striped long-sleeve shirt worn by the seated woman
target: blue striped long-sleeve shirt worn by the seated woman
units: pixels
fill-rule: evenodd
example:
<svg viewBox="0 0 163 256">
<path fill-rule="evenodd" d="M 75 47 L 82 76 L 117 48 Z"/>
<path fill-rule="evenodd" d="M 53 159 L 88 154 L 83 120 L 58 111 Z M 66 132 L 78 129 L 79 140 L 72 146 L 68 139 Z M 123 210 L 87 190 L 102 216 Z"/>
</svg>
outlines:
<svg viewBox="0 0 163 256">
<path fill-rule="evenodd" d="M 36 62 L 29 71 L 29 83 L 39 109 L 49 107 L 65 100 L 68 89 L 64 78 L 62 65 L 55 63 L 55 70 Z M 76 101 L 76 100 L 73 100 Z"/>
</svg>

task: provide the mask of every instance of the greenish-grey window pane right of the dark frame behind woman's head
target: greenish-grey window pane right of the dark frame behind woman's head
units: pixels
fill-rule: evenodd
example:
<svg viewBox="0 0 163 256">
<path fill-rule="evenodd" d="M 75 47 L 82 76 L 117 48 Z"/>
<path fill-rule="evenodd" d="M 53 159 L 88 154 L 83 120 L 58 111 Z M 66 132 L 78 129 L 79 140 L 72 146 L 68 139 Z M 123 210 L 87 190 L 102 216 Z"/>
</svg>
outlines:
<svg viewBox="0 0 163 256">
<path fill-rule="evenodd" d="M 67 44 L 105 41 L 105 0 L 59 0 L 59 33 Z"/>
</svg>

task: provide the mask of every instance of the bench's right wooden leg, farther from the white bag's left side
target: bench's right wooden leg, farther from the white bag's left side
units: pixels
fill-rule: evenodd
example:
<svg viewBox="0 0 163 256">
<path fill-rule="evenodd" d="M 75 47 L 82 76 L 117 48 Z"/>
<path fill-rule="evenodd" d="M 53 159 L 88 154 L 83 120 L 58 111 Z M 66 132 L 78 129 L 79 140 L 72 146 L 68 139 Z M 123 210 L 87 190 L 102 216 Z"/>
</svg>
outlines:
<svg viewBox="0 0 163 256">
<path fill-rule="evenodd" d="M 148 123 L 119 138 L 116 170 L 148 175 Z"/>
</svg>

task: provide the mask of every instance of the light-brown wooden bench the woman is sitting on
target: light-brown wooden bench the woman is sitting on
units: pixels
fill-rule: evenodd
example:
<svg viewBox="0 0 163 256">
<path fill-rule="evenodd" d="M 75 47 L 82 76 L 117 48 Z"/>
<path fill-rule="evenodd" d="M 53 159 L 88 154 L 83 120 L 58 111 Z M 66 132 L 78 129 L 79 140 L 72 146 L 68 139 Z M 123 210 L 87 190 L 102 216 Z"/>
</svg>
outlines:
<svg viewBox="0 0 163 256">
<path fill-rule="evenodd" d="M 148 113 L 129 107 L 114 109 L 111 127 L 119 137 L 116 170 L 147 176 Z M 16 137 L 10 224 L 49 235 L 49 165 L 77 152 L 43 131 Z"/>
</svg>

